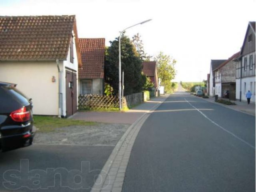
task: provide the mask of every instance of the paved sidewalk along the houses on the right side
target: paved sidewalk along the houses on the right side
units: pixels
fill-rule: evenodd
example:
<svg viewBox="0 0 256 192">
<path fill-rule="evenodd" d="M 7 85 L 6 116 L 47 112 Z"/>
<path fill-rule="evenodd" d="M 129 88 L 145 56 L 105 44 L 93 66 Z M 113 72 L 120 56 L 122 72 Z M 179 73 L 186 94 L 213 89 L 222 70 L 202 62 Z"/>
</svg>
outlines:
<svg viewBox="0 0 256 192">
<path fill-rule="evenodd" d="M 204 99 L 204 98 L 202 98 Z M 224 100 L 228 100 L 228 99 L 225 99 L 225 98 L 219 98 L 219 99 L 224 99 Z M 248 113 L 248 114 L 251 114 L 251 115 L 254 115 L 255 116 L 255 103 L 250 103 L 250 104 L 247 104 L 247 102 L 240 102 L 240 101 L 232 101 L 230 100 L 231 102 L 234 102 L 236 103 L 236 105 L 225 105 L 225 104 L 221 104 L 221 103 L 218 103 L 218 102 L 215 102 L 215 98 L 214 97 L 209 97 L 208 99 L 204 99 L 204 100 L 207 100 L 209 102 L 214 102 L 216 104 L 220 104 L 222 106 L 225 106 L 227 108 L 230 108 L 230 109 L 233 109 L 233 110 L 237 110 L 237 111 L 241 111 L 241 112 L 245 112 L 245 113 Z"/>
</svg>

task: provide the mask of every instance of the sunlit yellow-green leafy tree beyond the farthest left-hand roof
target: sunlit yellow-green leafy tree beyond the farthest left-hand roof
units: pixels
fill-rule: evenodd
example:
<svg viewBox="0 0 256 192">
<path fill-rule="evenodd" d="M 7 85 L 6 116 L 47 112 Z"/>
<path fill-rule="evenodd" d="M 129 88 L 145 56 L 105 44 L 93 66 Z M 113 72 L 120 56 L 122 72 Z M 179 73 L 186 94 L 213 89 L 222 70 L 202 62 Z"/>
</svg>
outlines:
<svg viewBox="0 0 256 192">
<path fill-rule="evenodd" d="M 161 84 L 166 87 L 166 90 L 170 90 L 171 80 L 173 80 L 176 75 L 176 60 L 160 52 L 160 54 L 154 58 L 154 61 L 156 61 L 157 64 L 157 73 L 158 77 L 161 79 Z"/>
</svg>

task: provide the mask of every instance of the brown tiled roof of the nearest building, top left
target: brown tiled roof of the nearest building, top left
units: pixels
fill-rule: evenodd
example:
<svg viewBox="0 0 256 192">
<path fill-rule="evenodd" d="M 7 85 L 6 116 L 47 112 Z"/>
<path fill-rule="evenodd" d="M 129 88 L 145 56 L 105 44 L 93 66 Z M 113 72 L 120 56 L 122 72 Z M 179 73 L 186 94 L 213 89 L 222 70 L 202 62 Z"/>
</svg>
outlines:
<svg viewBox="0 0 256 192">
<path fill-rule="evenodd" d="M 66 60 L 75 23 L 74 15 L 0 16 L 0 60 Z"/>
</svg>

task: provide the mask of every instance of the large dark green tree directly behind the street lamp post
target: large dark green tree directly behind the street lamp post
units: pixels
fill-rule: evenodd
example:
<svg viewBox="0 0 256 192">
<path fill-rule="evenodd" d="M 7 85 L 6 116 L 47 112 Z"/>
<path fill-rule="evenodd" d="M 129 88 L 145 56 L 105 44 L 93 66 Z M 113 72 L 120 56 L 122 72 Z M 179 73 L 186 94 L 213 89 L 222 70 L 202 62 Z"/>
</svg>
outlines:
<svg viewBox="0 0 256 192">
<path fill-rule="evenodd" d="M 105 81 L 113 88 L 114 94 L 118 94 L 119 85 L 118 44 L 118 38 L 110 41 L 105 61 Z M 146 83 L 142 75 L 142 61 L 131 40 L 125 35 L 121 38 L 121 68 L 124 71 L 124 95 L 141 92 Z"/>
</svg>

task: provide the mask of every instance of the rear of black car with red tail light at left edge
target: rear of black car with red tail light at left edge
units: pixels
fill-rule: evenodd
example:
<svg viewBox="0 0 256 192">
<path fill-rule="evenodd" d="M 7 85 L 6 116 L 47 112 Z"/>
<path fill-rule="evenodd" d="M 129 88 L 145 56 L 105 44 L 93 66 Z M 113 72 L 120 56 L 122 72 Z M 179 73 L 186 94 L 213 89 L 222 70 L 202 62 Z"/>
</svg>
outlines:
<svg viewBox="0 0 256 192">
<path fill-rule="evenodd" d="M 31 145 L 35 132 L 31 99 L 16 84 L 0 82 L 0 150 Z"/>
</svg>

